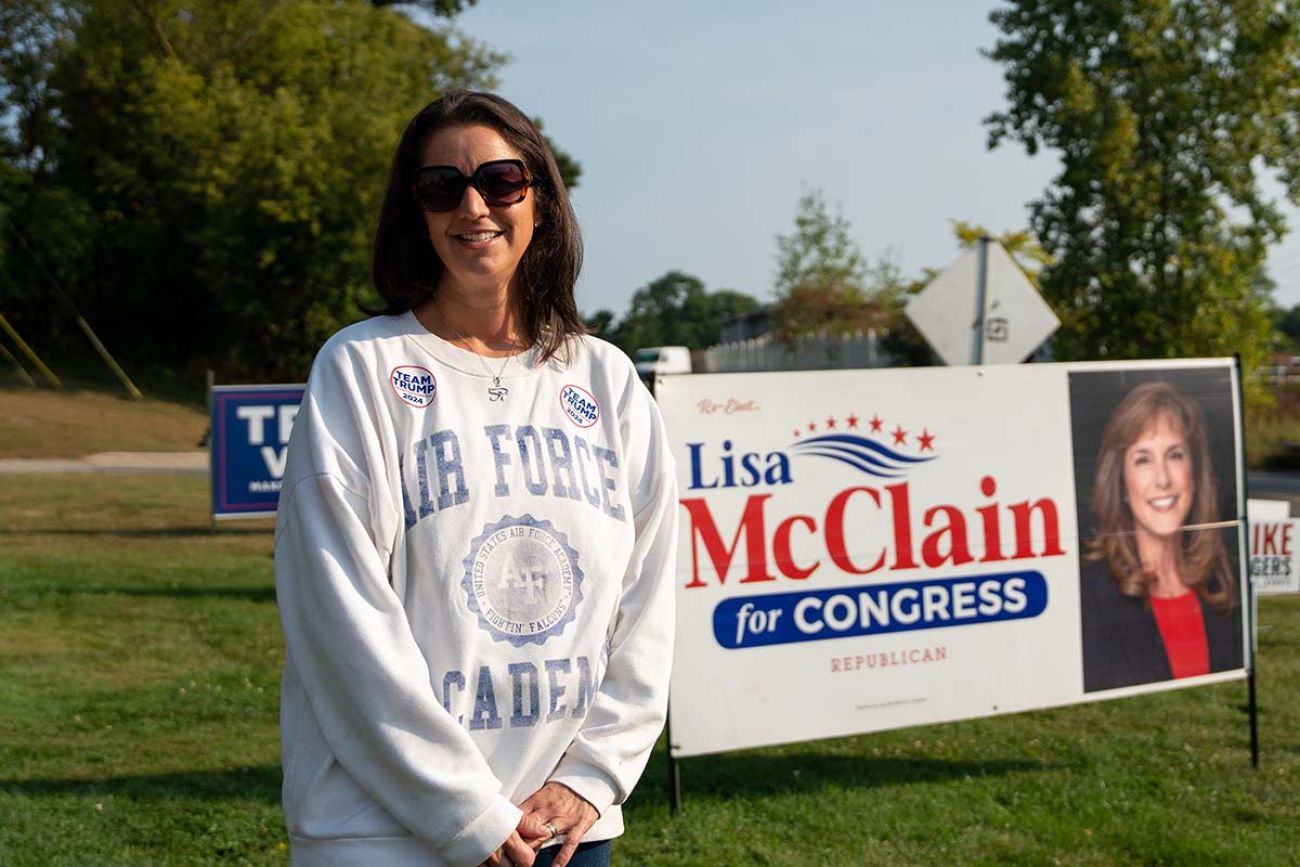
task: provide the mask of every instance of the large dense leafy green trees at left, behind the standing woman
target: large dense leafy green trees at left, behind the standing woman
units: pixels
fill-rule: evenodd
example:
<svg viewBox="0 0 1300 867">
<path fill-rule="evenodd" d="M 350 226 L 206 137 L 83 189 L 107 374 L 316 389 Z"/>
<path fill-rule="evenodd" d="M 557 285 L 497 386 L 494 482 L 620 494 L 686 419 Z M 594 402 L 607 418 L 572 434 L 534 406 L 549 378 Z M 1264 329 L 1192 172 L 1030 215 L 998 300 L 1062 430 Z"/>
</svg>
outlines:
<svg viewBox="0 0 1300 867">
<path fill-rule="evenodd" d="M 35 257 L 125 357 L 306 376 L 369 295 L 403 126 L 448 90 L 491 88 L 504 60 L 386 5 L 6 4 L 5 34 L 22 31 L 0 38 L 0 292 L 21 328 L 66 318 Z"/>
</svg>

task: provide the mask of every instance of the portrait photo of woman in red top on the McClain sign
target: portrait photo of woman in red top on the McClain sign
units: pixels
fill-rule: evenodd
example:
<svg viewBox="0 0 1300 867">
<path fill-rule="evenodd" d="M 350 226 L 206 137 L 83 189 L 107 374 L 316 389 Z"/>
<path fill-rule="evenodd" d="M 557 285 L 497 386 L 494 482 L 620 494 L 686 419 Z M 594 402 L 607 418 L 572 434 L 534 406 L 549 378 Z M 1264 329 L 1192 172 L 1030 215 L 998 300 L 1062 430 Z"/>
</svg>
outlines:
<svg viewBox="0 0 1300 867">
<path fill-rule="evenodd" d="M 1242 669 L 1228 367 L 1070 373 L 1083 689 Z"/>
</svg>

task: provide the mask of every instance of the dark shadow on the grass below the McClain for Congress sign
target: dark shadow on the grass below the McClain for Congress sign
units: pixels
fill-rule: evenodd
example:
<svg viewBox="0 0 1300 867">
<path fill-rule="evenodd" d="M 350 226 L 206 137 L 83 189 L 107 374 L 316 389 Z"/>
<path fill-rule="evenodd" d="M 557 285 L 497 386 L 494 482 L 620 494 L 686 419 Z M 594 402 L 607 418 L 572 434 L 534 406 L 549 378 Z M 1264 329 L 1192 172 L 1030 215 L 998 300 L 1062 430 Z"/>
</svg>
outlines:
<svg viewBox="0 0 1300 867">
<path fill-rule="evenodd" d="M 732 753 L 705 755 L 680 762 L 682 802 L 693 799 L 727 801 L 737 793 L 746 797 L 807 794 L 827 789 L 875 789 L 900 783 L 944 783 L 965 777 L 1045 772 L 1066 767 L 1062 763 L 1028 759 L 963 762 L 952 759 L 909 759 L 864 757 L 844 753 Z M 662 807 L 668 803 L 668 762 L 662 753 L 646 768 L 637 786 L 634 806 Z"/>
</svg>

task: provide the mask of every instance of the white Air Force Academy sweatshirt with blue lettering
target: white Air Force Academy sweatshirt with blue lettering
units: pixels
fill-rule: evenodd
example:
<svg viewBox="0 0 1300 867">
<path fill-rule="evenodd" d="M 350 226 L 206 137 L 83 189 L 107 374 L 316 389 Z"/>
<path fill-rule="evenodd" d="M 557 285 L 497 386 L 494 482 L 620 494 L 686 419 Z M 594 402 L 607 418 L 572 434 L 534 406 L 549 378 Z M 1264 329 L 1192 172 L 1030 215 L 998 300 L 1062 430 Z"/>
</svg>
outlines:
<svg viewBox="0 0 1300 867">
<path fill-rule="evenodd" d="M 550 780 L 599 811 L 585 840 L 620 835 L 664 720 L 676 508 L 602 341 L 503 363 L 411 313 L 330 338 L 276 526 L 294 863 L 478 864 Z"/>
</svg>

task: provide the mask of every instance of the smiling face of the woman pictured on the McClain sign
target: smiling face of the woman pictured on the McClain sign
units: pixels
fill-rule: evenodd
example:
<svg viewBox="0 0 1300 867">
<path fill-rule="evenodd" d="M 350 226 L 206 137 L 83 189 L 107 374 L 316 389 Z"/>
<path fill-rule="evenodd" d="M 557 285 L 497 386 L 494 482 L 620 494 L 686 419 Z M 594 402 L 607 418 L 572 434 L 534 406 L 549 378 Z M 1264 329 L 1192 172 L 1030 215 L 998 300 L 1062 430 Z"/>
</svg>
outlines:
<svg viewBox="0 0 1300 867">
<path fill-rule="evenodd" d="M 1183 432 L 1157 417 L 1124 451 L 1124 498 L 1139 534 L 1169 537 L 1192 508 L 1192 458 Z"/>
</svg>

